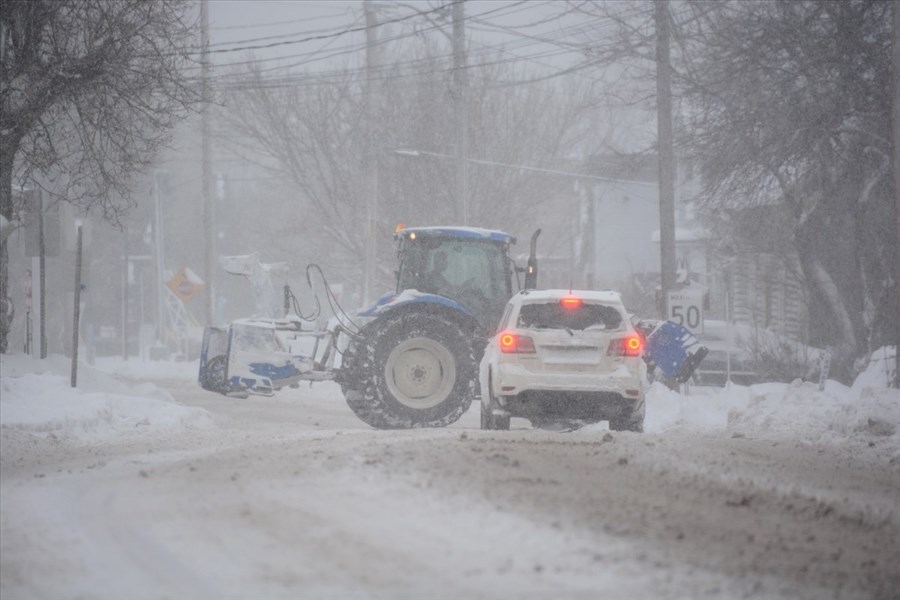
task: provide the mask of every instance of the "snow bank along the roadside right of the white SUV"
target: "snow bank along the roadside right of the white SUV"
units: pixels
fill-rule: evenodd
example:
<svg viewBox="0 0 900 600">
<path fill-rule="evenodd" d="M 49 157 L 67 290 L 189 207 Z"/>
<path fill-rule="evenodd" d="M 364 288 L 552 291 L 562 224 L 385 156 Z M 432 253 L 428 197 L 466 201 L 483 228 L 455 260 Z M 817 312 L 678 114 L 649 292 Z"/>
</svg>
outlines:
<svg viewBox="0 0 900 600">
<path fill-rule="evenodd" d="M 900 390 L 889 389 L 893 351 L 873 354 L 852 387 L 794 381 L 647 394 L 645 429 L 724 430 L 822 443 L 884 440 L 900 449 Z"/>
</svg>

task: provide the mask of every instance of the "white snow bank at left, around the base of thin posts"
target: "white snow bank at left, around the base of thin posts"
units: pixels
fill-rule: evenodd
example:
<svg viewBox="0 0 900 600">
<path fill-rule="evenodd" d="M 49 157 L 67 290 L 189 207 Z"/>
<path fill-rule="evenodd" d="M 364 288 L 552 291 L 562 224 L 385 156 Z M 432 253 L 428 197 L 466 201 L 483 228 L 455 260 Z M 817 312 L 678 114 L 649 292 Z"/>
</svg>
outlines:
<svg viewBox="0 0 900 600">
<path fill-rule="evenodd" d="M 134 364 L 133 369 L 139 368 Z M 160 363 L 141 364 L 162 368 Z M 0 355 L 0 429 L 98 441 L 212 424 L 207 411 L 176 403 L 152 383 L 128 385 L 85 365 L 78 368 L 78 387 L 71 387 L 70 377 L 65 357 Z"/>
</svg>

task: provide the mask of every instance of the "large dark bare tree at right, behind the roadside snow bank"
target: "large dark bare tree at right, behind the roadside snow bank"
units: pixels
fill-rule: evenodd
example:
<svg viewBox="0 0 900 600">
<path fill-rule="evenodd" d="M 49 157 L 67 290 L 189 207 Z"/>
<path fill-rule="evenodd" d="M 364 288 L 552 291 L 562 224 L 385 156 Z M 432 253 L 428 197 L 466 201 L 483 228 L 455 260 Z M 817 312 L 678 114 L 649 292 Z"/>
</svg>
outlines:
<svg viewBox="0 0 900 600">
<path fill-rule="evenodd" d="M 683 38 L 705 208 L 779 211 L 788 230 L 768 243 L 797 257 L 814 341 L 845 379 L 897 327 L 889 15 L 887 1 L 723 3 Z"/>
</svg>

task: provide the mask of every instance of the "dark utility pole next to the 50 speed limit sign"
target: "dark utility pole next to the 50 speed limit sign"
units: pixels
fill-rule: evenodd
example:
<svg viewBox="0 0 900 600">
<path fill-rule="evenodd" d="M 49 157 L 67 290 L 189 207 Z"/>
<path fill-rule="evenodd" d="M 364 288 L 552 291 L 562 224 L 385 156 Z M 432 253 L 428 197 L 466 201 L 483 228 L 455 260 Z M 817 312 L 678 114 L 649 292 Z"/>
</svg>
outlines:
<svg viewBox="0 0 900 600">
<path fill-rule="evenodd" d="M 662 317 L 675 287 L 675 157 L 672 135 L 672 76 L 669 64 L 669 0 L 656 0 L 656 124 L 659 159 L 659 249 Z"/>
</svg>

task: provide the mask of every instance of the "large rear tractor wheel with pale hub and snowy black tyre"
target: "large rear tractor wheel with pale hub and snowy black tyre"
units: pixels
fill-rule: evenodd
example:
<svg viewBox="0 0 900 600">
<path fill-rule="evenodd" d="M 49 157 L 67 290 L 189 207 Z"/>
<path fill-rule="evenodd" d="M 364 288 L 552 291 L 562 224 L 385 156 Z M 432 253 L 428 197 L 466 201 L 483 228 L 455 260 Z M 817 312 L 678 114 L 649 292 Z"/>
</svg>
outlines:
<svg viewBox="0 0 900 600">
<path fill-rule="evenodd" d="M 407 313 L 377 323 L 353 360 L 359 389 L 344 390 L 356 415 L 379 429 L 445 427 L 475 395 L 472 339 L 431 313 Z"/>
</svg>

